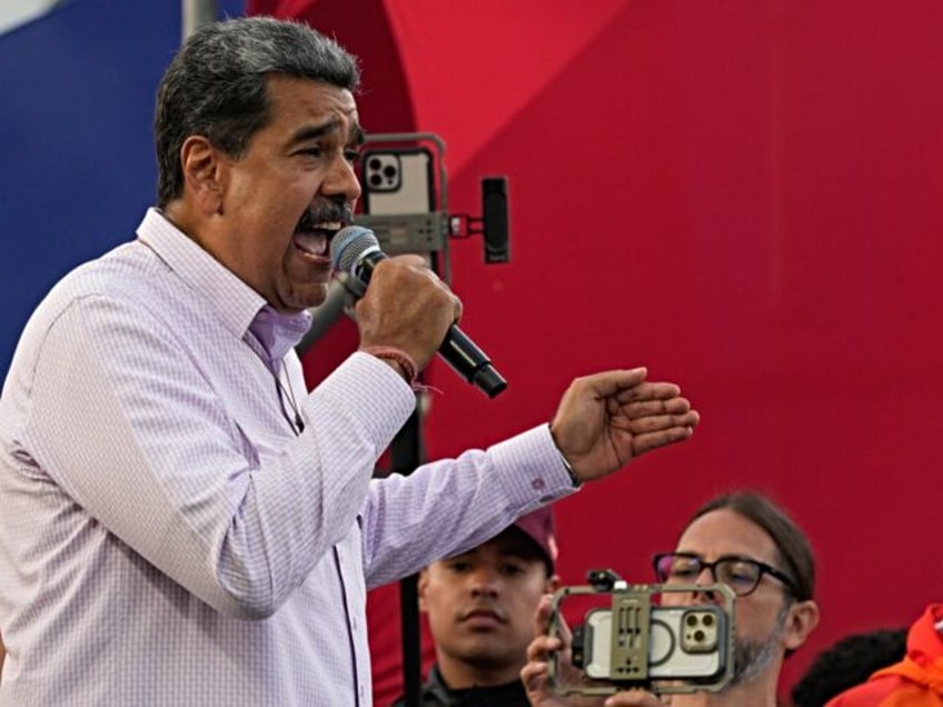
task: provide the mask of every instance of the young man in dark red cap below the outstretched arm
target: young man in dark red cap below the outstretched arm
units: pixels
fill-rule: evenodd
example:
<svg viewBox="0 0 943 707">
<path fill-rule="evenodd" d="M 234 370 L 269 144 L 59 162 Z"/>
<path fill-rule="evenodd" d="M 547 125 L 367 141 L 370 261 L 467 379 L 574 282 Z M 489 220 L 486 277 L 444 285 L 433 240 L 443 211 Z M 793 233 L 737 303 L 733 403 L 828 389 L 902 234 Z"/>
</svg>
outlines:
<svg viewBox="0 0 943 707">
<path fill-rule="evenodd" d="M 556 559 L 554 518 L 544 507 L 421 571 L 419 608 L 436 643 L 424 707 L 529 704 L 519 674 L 540 597 L 559 585 Z"/>
</svg>

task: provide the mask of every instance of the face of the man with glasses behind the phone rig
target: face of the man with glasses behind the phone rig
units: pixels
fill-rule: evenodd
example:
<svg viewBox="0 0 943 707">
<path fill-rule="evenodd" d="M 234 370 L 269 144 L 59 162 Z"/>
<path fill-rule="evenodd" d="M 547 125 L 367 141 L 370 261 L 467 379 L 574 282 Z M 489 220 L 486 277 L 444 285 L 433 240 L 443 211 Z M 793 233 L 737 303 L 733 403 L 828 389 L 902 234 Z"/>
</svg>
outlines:
<svg viewBox="0 0 943 707">
<path fill-rule="evenodd" d="M 705 561 L 719 557 L 751 558 L 783 571 L 776 544 L 763 528 L 734 510 L 722 508 L 694 520 L 678 539 L 677 552 L 692 552 Z M 708 569 L 696 584 L 713 584 Z M 665 595 L 665 604 L 721 603 L 708 593 Z M 736 599 L 736 677 L 742 683 L 771 666 L 782 664 L 786 649 L 801 646 L 817 623 L 813 601 L 796 603 L 790 589 L 778 579 L 764 574 L 752 593 Z"/>
</svg>

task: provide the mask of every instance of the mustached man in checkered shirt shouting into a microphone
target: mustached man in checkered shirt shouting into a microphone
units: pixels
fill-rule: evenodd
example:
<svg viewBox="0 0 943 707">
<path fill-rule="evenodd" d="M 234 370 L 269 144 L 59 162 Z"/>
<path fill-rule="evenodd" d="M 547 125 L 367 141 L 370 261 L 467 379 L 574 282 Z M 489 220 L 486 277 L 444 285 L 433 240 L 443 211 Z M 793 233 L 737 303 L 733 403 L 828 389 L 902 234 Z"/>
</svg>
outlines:
<svg viewBox="0 0 943 707">
<path fill-rule="evenodd" d="M 40 303 L 0 397 L 0 705 L 368 705 L 369 587 L 691 436 L 676 386 L 615 370 L 549 425 L 371 479 L 461 303 L 421 258 L 379 259 L 359 350 L 306 389 L 292 347 L 360 193 L 358 80 L 267 18 L 171 61 L 156 207 Z"/>
</svg>

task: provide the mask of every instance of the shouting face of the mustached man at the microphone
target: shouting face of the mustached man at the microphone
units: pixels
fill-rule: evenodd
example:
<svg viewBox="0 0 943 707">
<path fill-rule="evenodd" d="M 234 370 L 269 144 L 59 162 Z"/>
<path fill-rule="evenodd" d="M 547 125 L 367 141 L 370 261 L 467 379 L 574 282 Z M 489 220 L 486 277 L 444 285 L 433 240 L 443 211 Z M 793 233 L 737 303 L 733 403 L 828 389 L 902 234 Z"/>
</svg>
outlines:
<svg viewBox="0 0 943 707">
<path fill-rule="evenodd" d="M 361 132 L 346 89 L 272 76 L 268 96 L 270 120 L 245 155 L 231 158 L 190 137 L 182 159 L 209 223 L 197 240 L 275 309 L 292 312 L 327 295 L 329 240 L 360 196 L 354 162 Z"/>
</svg>

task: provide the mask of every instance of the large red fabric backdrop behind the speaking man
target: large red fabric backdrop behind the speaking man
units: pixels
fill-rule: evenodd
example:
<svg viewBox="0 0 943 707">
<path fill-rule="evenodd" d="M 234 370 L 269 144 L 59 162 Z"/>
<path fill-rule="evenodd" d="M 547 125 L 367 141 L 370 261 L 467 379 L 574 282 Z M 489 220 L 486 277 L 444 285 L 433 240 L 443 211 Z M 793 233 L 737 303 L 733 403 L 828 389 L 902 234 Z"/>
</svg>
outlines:
<svg viewBox="0 0 943 707">
<path fill-rule="evenodd" d="M 477 239 L 451 258 L 463 327 L 510 387 L 487 400 L 437 365 L 431 457 L 548 419 L 600 367 L 645 364 L 702 411 L 687 445 L 558 506 L 565 580 L 647 580 L 703 500 L 753 487 L 820 560 L 823 623 L 784 693 L 841 636 L 940 600 L 941 3 L 255 6 L 363 57 L 368 129 L 446 140 L 450 211 L 509 178 L 513 261 L 485 266 Z M 353 340 L 314 348 L 312 382 Z M 380 705 L 394 599 L 370 604 Z"/>
</svg>

